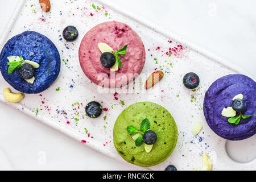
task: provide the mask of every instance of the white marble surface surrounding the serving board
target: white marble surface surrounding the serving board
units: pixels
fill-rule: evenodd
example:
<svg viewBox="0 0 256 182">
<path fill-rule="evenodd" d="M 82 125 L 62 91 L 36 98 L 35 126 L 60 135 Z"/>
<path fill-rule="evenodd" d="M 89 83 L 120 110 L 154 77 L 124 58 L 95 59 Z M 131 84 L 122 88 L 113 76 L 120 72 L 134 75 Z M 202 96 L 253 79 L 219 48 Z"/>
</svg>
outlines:
<svg viewBox="0 0 256 182">
<path fill-rule="evenodd" d="M 120 9 L 129 9 L 240 65 L 250 75 L 256 77 L 255 1 L 109 1 L 118 3 Z M 2 5 L 0 32 L 4 30 L 17 2 L 18 0 L 0 2 Z M 0 108 L 0 169 L 137 169 L 83 146 L 1 102 Z M 256 146 L 255 137 L 251 138 L 250 142 Z M 237 146 L 244 147 L 242 142 L 227 144 L 229 151 L 235 151 Z M 243 151 L 243 156 L 237 160 L 245 162 L 248 160 L 247 155 L 249 154 Z M 230 154 L 230 156 L 236 158 L 237 155 Z"/>
</svg>

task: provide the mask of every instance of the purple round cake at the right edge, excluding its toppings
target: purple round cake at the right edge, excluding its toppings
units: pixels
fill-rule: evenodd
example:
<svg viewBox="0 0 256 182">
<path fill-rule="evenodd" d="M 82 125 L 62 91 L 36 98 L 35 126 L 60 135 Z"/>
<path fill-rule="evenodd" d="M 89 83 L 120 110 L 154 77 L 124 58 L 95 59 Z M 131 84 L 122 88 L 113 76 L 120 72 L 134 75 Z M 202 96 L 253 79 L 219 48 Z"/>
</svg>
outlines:
<svg viewBox="0 0 256 182">
<path fill-rule="evenodd" d="M 228 122 L 222 115 L 224 108 L 232 106 L 232 100 L 238 94 L 243 95 L 245 109 L 242 115 L 252 115 L 241 118 L 238 125 Z M 256 83 L 245 75 L 227 75 L 214 81 L 205 93 L 204 115 L 210 127 L 222 138 L 242 140 L 256 133 Z M 238 113 L 237 113 L 238 114 Z"/>
</svg>

